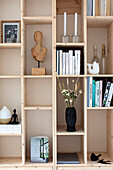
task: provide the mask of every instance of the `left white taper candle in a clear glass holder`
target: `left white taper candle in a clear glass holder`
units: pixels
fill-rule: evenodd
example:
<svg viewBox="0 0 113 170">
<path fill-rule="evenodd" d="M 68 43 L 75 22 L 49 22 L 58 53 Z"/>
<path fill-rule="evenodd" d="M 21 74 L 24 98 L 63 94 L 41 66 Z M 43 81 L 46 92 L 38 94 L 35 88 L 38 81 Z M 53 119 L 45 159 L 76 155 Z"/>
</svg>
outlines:
<svg viewBox="0 0 113 170">
<path fill-rule="evenodd" d="M 64 34 L 61 35 L 61 42 L 68 43 L 69 35 L 67 35 L 67 13 L 64 12 Z"/>
</svg>

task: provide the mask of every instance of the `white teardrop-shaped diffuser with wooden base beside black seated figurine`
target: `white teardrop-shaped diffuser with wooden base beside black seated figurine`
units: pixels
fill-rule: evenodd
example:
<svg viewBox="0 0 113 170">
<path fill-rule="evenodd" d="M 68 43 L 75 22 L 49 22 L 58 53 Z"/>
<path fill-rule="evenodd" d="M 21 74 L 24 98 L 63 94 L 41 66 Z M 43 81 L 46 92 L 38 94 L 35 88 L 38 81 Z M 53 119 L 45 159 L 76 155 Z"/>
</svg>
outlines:
<svg viewBox="0 0 113 170">
<path fill-rule="evenodd" d="M 0 111 L 0 123 L 1 124 L 8 124 L 11 121 L 11 111 L 6 107 L 3 106 L 3 108 Z"/>
</svg>

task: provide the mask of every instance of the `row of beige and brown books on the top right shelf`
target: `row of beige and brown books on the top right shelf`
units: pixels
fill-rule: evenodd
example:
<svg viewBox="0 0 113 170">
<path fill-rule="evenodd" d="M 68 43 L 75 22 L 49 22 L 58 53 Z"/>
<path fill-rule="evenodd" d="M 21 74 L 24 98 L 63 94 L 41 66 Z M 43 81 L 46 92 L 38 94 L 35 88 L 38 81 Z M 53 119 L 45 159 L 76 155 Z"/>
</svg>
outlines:
<svg viewBox="0 0 113 170">
<path fill-rule="evenodd" d="M 113 15 L 113 0 L 87 0 L 87 16 L 110 15 Z"/>
</svg>

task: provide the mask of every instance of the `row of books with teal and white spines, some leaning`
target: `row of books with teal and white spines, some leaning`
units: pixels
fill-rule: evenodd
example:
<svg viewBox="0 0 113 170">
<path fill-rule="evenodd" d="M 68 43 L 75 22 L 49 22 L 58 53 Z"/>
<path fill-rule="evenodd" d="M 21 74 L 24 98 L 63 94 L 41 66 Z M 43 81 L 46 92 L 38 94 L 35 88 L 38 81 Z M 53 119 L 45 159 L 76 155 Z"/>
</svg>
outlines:
<svg viewBox="0 0 113 170">
<path fill-rule="evenodd" d="M 107 82 L 105 91 L 103 80 L 87 78 L 87 107 L 110 107 L 113 96 L 113 83 Z"/>
</svg>

